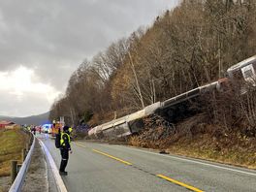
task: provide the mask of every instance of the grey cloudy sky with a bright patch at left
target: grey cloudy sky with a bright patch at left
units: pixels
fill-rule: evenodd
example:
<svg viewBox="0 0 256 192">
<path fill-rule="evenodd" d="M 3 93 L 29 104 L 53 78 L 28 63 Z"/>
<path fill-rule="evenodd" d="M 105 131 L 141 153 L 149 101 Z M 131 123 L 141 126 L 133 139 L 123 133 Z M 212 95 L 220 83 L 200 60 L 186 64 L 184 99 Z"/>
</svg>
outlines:
<svg viewBox="0 0 256 192">
<path fill-rule="evenodd" d="M 1 0 L 0 115 L 48 112 L 85 58 L 179 0 Z"/>
</svg>

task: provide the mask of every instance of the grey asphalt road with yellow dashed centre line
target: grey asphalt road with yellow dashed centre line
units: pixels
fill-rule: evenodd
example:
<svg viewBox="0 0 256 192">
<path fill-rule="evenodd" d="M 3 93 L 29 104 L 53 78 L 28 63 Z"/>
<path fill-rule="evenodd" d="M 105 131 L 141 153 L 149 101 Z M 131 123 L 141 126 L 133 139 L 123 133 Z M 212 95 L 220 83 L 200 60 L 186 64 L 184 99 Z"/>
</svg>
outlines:
<svg viewBox="0 0 256 192">
<path fill-rule="evenodd" d="M 57 167 L 59 150 L 42 138 Z M 256 171 L 117 144 L 72 143 L 68 191 L 256 191 Z"/>
</svg>

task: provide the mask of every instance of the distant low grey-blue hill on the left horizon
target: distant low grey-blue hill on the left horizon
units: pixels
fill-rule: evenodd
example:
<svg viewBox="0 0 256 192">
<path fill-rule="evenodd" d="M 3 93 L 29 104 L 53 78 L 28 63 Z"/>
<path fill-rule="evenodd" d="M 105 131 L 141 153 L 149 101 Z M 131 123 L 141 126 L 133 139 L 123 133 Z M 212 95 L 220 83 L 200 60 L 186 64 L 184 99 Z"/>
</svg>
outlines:
<svg viewBox="0 0 256 192">
<path fill-rule="evenodd" d="M 34 124 L 34 125 L 41 125 L 48 122 L 48 114 L 49 112 L 26 116 L 26 117 L 11 117 L 11 116 L 0 116 L 0 120 L 10 120 L 15 122 L 16 124 Z"/>
</svg>

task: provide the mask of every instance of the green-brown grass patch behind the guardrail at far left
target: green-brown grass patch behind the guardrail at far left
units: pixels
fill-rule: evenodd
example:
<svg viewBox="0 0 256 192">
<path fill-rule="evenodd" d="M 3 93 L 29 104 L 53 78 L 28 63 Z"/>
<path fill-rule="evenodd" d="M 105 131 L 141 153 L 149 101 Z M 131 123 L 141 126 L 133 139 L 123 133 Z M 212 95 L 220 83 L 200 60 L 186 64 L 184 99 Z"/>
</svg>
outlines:
<svg viewBox="0 0 256 192">
<path fill-rule="evenodd" d="M 0 176 L 10 176 L 11 160 L 21 163 L 21 150 L 28 136 L 20 130 L 0 131 Z"/>
</svg>

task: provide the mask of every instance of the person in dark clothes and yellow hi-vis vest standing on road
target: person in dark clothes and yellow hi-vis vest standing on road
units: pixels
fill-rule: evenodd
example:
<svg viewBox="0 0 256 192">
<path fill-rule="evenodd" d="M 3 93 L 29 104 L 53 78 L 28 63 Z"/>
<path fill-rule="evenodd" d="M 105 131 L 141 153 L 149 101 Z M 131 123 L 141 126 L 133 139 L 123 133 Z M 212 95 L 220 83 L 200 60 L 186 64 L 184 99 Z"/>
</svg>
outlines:
<svg viewBox="0 0 256 192">
<path fill-rule="evenodd" d="M 61 163 L 59 168 L 59 174 L 62 176 L 68 175 L 65 169 L 68 165 L 69 152 L 72 153 L 70 142 L 71 141 L 70 141 L 69 126 L 64 126 L 63 132 L 61 133 L 61 137 L 60 137 Z"/>
</svg>

